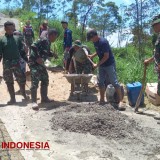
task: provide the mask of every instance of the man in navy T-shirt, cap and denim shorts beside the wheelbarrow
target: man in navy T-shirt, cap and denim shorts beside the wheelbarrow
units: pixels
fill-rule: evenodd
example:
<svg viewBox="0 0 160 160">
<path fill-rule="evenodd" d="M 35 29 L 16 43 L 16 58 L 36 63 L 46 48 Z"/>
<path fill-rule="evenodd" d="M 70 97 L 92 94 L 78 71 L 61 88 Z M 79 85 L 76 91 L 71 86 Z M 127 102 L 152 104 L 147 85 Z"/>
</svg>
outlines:
<svg viewBox="0 0 160 160">
<path fill-rule="evenodd" d="M 94 64 L 94 68 L 98 67 L 98 85 L 100 91 L 100 104 L 105 102 L 105 91 L 108 84 L 112 84 L 119 97 L 119 109 L 124 110 L 122 102 L 121 87 L 117 80 L 115 59 L 111 51 L 111 47 L 105 38 L 99 37 L 97 31 L 92 29 L 87 32 L 87 40 L 94 43 L 96 53 L 90 55 L 94 58 L 98 55 L 99 63 Z"/>
</svg>

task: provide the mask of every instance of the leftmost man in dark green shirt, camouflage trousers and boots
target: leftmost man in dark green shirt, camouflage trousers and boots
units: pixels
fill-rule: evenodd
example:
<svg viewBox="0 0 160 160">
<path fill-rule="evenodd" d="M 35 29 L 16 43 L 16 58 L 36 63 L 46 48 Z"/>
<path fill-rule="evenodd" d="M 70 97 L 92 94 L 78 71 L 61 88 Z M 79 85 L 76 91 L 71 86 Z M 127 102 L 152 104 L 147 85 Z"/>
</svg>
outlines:
<svg viewBox="0 0 160 160">
<path fill-rule="evenodd" d="M 7 21 L 4 23 L 5 35 L 0 39 L 0 61 L 3 58 L 3 77 L 7 84 L 7 88 L 10 94 L 10 101 L 8 105 L 12 105 L 16 102 L 13 74 L 19 83 L 20 90 L 25 99 L 25 83 L 26 77 L 20 67 L 20 58 L 22 57 L 26 62 L 28 61 L 26 53 L 24 51 L 23 43 L 21 39 L 13 35 L 14 23 Z"/>
</svg>

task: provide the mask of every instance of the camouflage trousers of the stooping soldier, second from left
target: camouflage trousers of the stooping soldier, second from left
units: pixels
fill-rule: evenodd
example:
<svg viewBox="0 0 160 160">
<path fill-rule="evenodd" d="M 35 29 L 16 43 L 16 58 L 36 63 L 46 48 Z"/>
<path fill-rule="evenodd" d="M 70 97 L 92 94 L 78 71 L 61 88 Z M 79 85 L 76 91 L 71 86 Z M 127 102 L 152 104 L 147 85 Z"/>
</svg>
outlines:
<svg viewBox="0 0 160 160">
<path fill-rule="evenodd" d="M 35 64 L 30 66 L 31 71 L 31 90 L 37 89 L 39 81 L 41 86 L 48 86 L 49 78 L 46 68 L 42 65 Z"/>
</svg>

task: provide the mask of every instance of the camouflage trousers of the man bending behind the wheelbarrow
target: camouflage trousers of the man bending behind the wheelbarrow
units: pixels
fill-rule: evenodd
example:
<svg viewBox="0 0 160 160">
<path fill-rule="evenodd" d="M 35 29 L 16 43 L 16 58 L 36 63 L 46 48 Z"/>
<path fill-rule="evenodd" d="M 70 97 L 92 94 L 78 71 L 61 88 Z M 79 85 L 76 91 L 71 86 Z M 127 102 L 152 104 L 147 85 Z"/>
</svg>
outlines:
<svg viewBox="0 0 160 160">
<path fill-rule="evenodd" d="M 89 60 L 86 60 L 84 63 L 75 61 L 75 69 L 77 74 L 90 74 L 92 73 L 92 65 Z"/>
</svg>

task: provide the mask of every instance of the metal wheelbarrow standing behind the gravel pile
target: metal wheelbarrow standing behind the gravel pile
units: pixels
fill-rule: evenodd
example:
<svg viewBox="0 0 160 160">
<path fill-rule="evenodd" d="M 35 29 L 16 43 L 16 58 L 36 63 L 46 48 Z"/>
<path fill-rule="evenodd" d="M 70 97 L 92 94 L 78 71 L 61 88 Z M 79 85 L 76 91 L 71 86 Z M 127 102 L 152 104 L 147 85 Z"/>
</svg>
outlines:
<svg viewBox="0 0 160 160">
<path fill-rule="evenodd" d="M 90 82 L 93 74 L 65 74 L 64 77 L 71 84 L 70 96 L 77 94 L 77 100 L 81 100 L 81 94 L 88 93 L 88 83 Z"/>
</svg>

